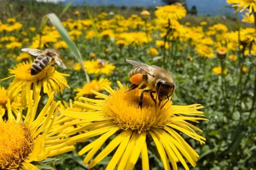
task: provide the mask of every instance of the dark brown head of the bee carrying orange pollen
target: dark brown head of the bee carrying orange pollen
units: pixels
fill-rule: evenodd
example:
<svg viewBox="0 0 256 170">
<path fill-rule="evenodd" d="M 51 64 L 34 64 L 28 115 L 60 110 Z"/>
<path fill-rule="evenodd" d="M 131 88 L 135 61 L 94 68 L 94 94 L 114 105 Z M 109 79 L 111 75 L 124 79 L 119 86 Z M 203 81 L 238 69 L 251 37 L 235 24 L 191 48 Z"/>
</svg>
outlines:
<svg viewBox="0 0 256 170">
<path fill-rule="evenodd" d="M 173 83 L 160 80 L 157 82 L 156 90 L 158 93 L 158 99 L 163 100 L 170 97 L 174 93 L 175 85 Z"/>
</svg>

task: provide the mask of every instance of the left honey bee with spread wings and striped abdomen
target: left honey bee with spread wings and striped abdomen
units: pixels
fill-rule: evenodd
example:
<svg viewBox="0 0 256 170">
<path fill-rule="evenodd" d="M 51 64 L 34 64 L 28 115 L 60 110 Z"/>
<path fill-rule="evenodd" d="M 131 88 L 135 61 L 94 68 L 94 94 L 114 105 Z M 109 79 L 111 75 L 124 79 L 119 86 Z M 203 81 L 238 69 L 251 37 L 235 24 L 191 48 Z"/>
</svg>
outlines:
<svg viewBox="0 0 256 170">
<path fill-rule="evenodd" d="M 31 55 L 38 56 L 30 67 L 31 75 L 36 75 L 48 65 L 55 66 L 57 63 L 61 68 L 71 69 L 75 64 L 70 60 L 59 57 L 55 49 L 38 50 L 32 48 L 23 48 L 21 51 L 29 52 Z"/>
</svg>

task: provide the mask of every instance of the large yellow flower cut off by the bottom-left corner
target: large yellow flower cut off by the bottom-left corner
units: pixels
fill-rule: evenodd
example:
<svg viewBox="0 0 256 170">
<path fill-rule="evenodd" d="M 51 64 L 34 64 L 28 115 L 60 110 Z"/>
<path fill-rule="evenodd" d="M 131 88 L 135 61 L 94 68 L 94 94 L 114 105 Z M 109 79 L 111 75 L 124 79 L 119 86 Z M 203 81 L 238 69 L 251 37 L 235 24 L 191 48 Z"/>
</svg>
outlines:
<svg viewBox="0 0 256 170">
<path fill-rule="evenodd" d="M 58 135 L 67 129 L 68 125 L 53 129 L 58 114 L 56 108 L 60 103 L 53 101 L 53 93 L 49 95 L 41 112 L 37 112 L 39 94 L 35 96 L 34 106 L 31 97 L 25 120 L 22 120 L 21 115 L 15 119 L 10 110 L 10 103 L 7 103 L 8 121 L 0 120 L 0 169 L 39 170 L 33 165 L 33 161 L 39 165 L 38 162 L 47 157 L 75 149 L 73 145 L 76 142 L 68 141 L 67 133 Z"/>
</svg>

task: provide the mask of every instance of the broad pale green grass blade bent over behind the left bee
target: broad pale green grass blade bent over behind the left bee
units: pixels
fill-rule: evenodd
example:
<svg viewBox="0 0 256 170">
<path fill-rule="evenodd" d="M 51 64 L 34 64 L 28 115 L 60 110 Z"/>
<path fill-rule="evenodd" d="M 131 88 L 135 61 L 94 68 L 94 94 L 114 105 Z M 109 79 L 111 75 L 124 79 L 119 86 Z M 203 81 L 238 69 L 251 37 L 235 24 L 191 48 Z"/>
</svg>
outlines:
<svg viewBox="0 0 256 170">
<path fill-rule="evenodd" d="M 40 26 L 40 30 L 42 31 L 44 29 L 48 19 L 51 21 L 52 25 L 60 33 L 61 38 L 67 43 L 68 48 L 71 51 L 71 54 L 81 64 L 82 69 L 84 70 L 84 73 L 86 75 L 86 82 L 89 83 L 90 82 L 90 78 L 89 78 L 89 76 L 88 76 L 88 74 L 87 74 L 87 72 L 86 72 L 86 70 L 85 70 L 85 68 L 83 66 L 82 55 L 81 55 L 80 51 L 78 50 L 78 48 L 76 47 L 76 44 L 74 43 L 74 41 L 71 40 L 70 36 L 68 35 L 68 32 L 63 27 L 63 25 L 61 24 L 60 19 L 56 16 L 55 13 L 48 13 L 48 14 L 43 16 L 42 22 L 41 22 L 41 26 Z"/>
</svg>

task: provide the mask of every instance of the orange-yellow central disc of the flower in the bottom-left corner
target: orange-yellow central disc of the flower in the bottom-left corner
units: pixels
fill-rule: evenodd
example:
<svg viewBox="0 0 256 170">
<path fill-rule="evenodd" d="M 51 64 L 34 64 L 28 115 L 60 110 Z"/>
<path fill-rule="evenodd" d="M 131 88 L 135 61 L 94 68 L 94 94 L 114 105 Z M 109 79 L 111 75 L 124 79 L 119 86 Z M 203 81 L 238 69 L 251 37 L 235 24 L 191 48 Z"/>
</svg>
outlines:
<svg viewBox="0 0 256 170">
<path fill-rule="evenodd" d="M 0 169 L 20 167 L 34 147 L 29 127 L 23 123 L 0 122 L 0 134 Z"/>
</svg>

